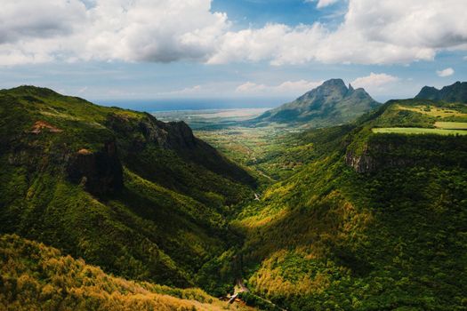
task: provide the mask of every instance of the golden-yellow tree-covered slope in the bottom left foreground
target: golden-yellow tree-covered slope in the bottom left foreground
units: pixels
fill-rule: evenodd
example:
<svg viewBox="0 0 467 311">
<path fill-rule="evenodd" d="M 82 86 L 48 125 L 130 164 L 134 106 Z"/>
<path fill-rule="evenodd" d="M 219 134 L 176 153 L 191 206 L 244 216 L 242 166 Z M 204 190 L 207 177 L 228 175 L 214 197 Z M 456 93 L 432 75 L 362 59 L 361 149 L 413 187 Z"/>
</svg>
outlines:
<svg viewBox="0 0 467 311">
<path fill-rule="evenodd" d="M 2 310 L 207 311 L 225 305 L 204 291 L 128 281 L 42 243 L 0 235 Z"/>
</svg>

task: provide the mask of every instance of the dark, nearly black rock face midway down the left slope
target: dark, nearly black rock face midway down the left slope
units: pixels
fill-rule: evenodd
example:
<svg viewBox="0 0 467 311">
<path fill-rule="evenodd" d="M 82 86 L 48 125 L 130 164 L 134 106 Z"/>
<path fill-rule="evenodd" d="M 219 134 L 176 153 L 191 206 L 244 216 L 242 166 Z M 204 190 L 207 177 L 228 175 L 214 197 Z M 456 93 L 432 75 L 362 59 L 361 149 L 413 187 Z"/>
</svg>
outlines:
<svg viewBox="0 0 467 311">
<path fill-rule="evenodd" d="M 98 152 L 76 153 L 68 164 L 68 177 L 84 184 L 93 195 L 107 195 L 123 187 L 122 164 L 115 142 L 108 142 Z"/>
</svg>

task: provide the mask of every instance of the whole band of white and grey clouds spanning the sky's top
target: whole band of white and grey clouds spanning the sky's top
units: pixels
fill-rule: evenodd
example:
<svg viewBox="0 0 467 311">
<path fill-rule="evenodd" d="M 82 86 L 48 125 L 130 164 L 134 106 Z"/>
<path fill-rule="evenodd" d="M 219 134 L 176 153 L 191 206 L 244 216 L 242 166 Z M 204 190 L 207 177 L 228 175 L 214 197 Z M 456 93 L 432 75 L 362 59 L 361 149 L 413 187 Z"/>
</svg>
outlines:
<svg viewBox="0 0 467 311">
<path fill-rule="evenodd" d="M 84 1 L 84 0 L 83 0 Z M 467 2 L 349 0 L 337 28 L 233 30 L 212 0 L 4 0 L 0 65 L 53 60 L 407 64 L 467 51 Z M 319 0 L 325 7 L 334 0 Z"/>
</svg>

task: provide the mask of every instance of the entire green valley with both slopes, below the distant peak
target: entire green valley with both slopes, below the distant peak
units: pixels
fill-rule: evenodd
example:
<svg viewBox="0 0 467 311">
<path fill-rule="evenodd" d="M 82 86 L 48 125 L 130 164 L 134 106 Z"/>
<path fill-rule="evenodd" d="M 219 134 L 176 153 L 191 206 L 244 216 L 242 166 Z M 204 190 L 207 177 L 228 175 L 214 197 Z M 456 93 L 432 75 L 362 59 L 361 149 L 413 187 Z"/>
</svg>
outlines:
<svg viewBox="0 0 467 311">
<path fill-rule="evenodd" d="M 2 306 L 465 304 L 463 102 L 390 100 L 325 127 L 162 122 L 30 86 L 0 103 Z"/>
</svg>

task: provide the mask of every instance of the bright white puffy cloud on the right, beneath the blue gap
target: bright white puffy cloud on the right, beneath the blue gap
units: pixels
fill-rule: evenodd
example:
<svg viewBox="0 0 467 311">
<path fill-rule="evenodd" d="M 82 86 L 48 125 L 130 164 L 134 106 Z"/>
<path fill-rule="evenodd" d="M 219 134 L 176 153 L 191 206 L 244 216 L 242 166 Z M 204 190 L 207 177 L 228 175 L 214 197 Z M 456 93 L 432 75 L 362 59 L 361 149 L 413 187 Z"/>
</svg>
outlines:
<svg viewBox="0 0 467 311">
<path fill-rule="evenodd" d="M 465 10 L 467 2 L 456 0 L 350 0 L 336 30 L 320 23 L 294 28 L 269 24 L 228 33 L 209 62 L 406 64 L 434 60 L 443 49 L 465 49 Z"/>
</svg>

